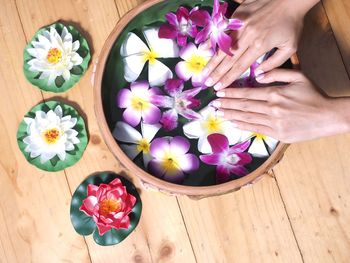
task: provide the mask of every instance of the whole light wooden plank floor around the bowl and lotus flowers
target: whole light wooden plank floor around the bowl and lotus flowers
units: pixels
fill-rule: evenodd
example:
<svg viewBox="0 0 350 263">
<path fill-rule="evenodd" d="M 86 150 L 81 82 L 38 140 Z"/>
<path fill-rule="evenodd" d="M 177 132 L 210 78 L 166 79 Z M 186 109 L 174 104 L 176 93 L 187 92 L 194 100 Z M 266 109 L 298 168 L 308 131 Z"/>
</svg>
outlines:
<svg viewBox="0 0 350 263">
<path fill-rule="evenodd" d="M 26 163 L 19 122 L 56 96 L 26 81 L 23 48 L 38 28 L 61 20 L 84 33 L 95 63 L 119 18 L 140 2 L 0 0 L 0 262 L 350 262 L 350 134 L 292 145 L 273 177 L 225 196 L 193 201 L 142 190 L 140 224 L 117 246 L 75 233 L 71 193 L 96 171 L 124 169 L 94 117 L 92 65 L 62 94 L 86 115 L 82 160 L 55 174 Z M 350 95 L 349 25 L 349 0 L 323 0 L 306 19 L 302 68 L 333 95 Z"/>
</svg>

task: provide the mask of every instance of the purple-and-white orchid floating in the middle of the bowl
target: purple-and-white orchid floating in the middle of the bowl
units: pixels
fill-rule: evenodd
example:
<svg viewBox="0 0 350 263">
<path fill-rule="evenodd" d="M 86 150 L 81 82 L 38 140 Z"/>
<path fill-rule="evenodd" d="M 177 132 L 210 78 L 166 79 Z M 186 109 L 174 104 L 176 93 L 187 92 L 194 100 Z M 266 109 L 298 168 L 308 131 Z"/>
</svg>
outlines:
<svg viewBox="0 0 350 263">
<path fill-rule="evenodd" d="M 200 100 L 194 97 L 202 88 L 194 88 L 183 91 L 184 81 L 180 79 L 169 79 L 165 82 L 164 90 L 170 96 L 156 95 L 153 102 L 157 106 L 169 108 L 170 110 L 163 113 L 160 123 L 167 131 L 177 127 L 178 115 L 188 120 L 200 118 L 200 114 L 193 110 L 200 105 Z"/>
</svg>

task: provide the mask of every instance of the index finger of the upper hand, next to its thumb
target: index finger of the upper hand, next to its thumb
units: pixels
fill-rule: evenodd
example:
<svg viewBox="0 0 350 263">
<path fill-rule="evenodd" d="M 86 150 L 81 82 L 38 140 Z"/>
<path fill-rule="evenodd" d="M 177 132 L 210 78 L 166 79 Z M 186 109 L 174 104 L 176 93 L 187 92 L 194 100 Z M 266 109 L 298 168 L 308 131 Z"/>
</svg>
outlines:
<svg viewBox="0 0 350 263">
<path fill-rule="evenodd" d="M 214 86 L 215 90 L 221 90 L 225 87 L 228 87 L 232 84 L 236 79 L 239 78 L 240 75 L 244 73 L 260 56 L 264 53 L 258 52 L 254 48 L 248 48 L 244 54 L 235 61 L 233 65 L 231 65 L 231 70 L 229 70 Z"/>
</svg>

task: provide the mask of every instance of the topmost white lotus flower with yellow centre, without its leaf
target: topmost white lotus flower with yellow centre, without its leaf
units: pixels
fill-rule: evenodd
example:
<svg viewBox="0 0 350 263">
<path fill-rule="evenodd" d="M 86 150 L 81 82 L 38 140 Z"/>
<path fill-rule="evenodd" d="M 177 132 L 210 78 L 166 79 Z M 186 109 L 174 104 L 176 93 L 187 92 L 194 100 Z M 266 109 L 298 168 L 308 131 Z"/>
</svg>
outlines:
<svg viewBox="0 0 350 263">
<path fill-rule="evenodd" d="M 28 61 L 30 71 L 41 72 L 39 79 L 48 79 L 51 85 L 55 79 L 62 76 L 65 81 L 70 79 L 70 70 L 80 65 L 83 58 L 77 53 L 79 40 L 73 42 L 72 34 L 63 27 L 61 36 L 54 27 L 38 35 L 38 41 L 33 41 L 33 48 L 28 53 L 34 58 Z"/>
</svg>

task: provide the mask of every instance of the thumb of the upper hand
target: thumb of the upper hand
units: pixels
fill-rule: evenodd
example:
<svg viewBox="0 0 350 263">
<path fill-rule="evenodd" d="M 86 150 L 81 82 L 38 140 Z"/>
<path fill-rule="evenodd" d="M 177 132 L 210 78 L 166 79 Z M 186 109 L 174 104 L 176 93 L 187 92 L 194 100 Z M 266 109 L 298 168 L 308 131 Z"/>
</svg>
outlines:
<svg viewBox="0 0 350 263">
<path fill-rule="evenodd" d="M 287 59 L 289 59 L 295 51 L 293 49 L 277 49 L 277 51 L 269 57 L 267 60 L 262 62 L 257 68 L 256 73 L 260 75 L 263 72 L 270 71 L 274 68 L 281 66 Z"/>
</svg>

